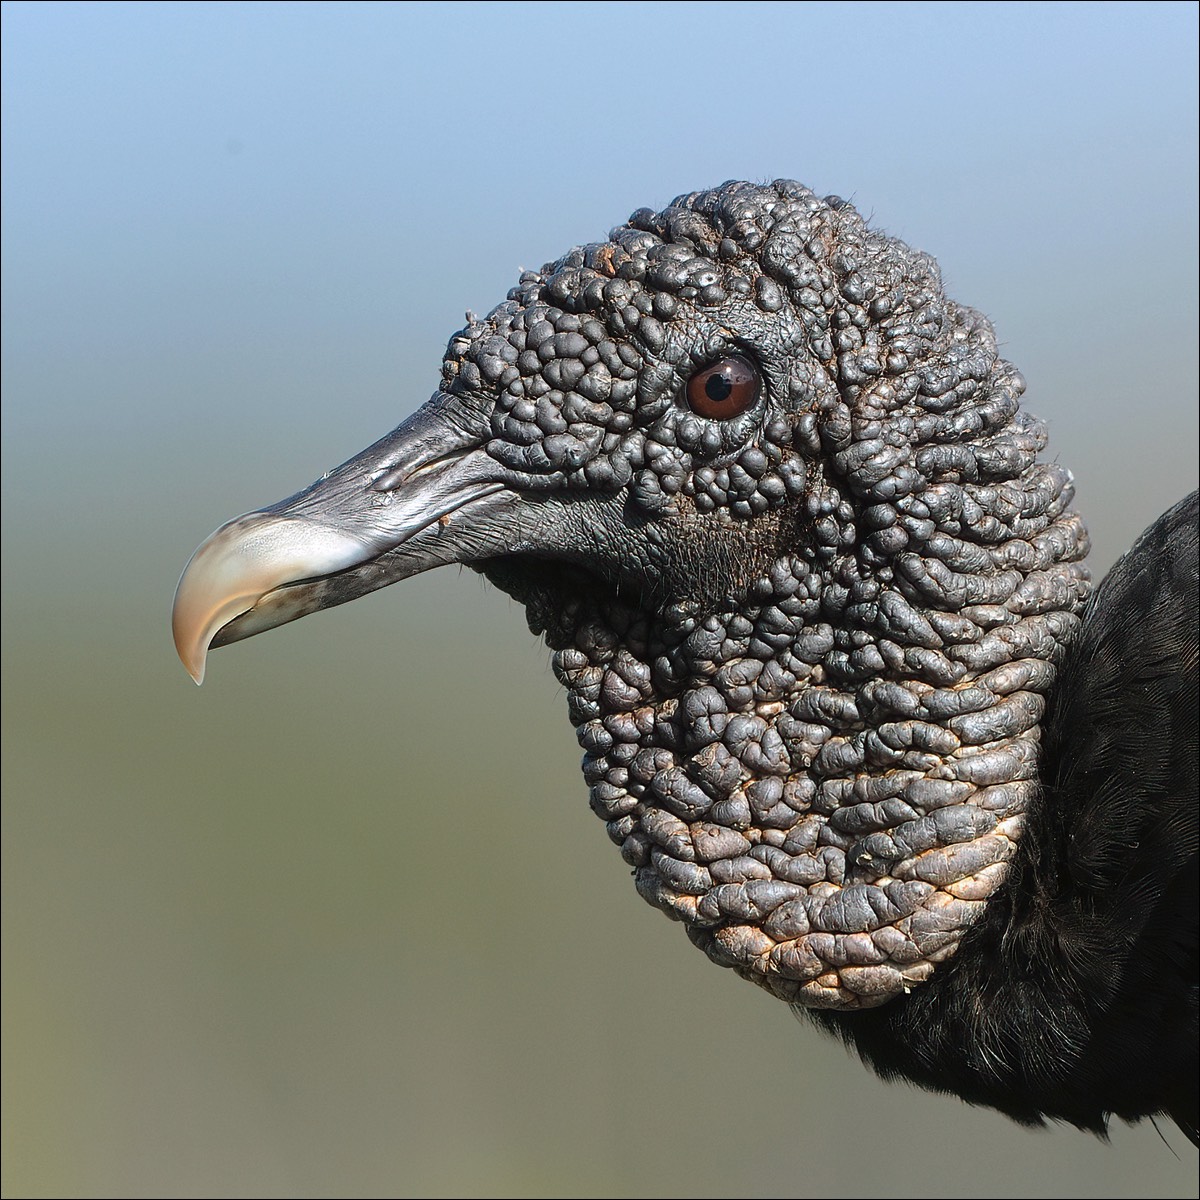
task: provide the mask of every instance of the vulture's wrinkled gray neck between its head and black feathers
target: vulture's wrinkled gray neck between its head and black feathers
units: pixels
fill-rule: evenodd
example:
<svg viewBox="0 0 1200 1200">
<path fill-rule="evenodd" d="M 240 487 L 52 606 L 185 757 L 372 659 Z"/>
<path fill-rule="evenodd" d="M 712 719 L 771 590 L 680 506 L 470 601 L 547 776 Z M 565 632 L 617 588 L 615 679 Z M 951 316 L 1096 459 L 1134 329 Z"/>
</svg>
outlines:
<svg viewBox="0 0 1200 1200">
<path fill-rule="evenodd" d="M 1086 545 L 1063 509 L 1046 542 Z M 497 578 L 556 649 L 592 808 L 640 893 L 805 1008 L 929 979 L 1003 882 L 1038 786 L 1086 571 L 1046 551 L 1061 587 L 1022 604 L 997 554 L 938 607 L 946 558 L 986 557 L 938 548 L 881 570 L 802 546 L 707 611 L 535 564 Z"/>
</svg>

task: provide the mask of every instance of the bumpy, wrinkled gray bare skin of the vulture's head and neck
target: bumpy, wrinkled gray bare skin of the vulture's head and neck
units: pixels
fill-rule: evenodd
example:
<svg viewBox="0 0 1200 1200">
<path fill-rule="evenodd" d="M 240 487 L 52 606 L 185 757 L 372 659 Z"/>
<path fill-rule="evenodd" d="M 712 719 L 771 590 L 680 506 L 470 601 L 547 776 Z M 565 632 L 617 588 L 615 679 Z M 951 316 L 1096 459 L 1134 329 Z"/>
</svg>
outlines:
<svg viewBox="0 0 1200 1200">
<path fill-rule="evenodd" d="M 757 403 L 696 415 L 689 377 L 731 353 Z M 338 468 L 386 508 L 440 438 L 474 455 L 472 499 L 215 644 L 482 570 L 554 649 L 641 894 L 788 1002 L 880 1004 L 1003 881 L 1088 592 L 1022 390 L 935 262 L 842 200 L 684 196 L 524 274 L 451 338 L 430 404 Z M 328 520 L 326 487 L 269 511 Z"/>
</svg>

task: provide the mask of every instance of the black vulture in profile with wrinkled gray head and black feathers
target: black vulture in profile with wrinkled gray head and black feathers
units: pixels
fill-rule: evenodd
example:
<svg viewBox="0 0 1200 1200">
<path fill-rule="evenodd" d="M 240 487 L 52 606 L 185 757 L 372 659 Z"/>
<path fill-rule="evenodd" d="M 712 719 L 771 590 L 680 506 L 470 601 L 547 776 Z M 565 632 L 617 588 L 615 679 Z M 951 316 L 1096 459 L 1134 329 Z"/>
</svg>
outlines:
<svg viewBox="0 0 1200 1200">
<path fill-rule="evenodd" d="M 714 962 L 883 1076 L 1195 1141 L 1196 496 L 1092 594 L 991 324 L 796 182 L 640 209 L 468 318 L 428 403 L 196 552 L 197 682 L 466 564 Z"/>
</svg>

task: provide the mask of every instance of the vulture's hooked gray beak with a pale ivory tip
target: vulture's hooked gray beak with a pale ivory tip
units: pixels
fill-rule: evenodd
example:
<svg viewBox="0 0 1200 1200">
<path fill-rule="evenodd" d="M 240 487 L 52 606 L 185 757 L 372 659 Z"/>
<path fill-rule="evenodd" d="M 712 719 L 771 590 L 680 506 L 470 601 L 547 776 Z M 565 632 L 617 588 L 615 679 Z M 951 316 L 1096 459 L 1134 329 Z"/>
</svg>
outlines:
<svg viewBox="0 0 1200 1200">
<path fill-rule="evenodd" d="M 211 647 L 443 563 L 502 553 L 520 497 L 485 437 L 476 414 L 434 396 L 302 492 L 221 526 L 175 590 L 172 630 L 187 673 L 203 682 Z"/>
</svg>

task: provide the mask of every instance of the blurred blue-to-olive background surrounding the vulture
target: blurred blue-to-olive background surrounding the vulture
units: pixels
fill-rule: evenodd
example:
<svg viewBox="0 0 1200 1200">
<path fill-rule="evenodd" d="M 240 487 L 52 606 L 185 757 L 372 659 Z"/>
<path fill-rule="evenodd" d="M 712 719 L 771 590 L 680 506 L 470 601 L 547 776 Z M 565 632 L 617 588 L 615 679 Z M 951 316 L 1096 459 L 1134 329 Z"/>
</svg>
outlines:
<svg viewBox="0 0 1200 1200">
<path fill-rule="evenodd" d="M 1106 1147 L 884 1086 L 709 965 L 476 576 L 221 650 L 200 691 L 168 630 L 200 539 L 395 426 L 467 307 L 728 178 L 938 257 L 1103 571 L 1196 485 L 1194 5 L 2 32 L 5 1195 L 1195 1194 L 1174 1127 Z"/>
</svg>

